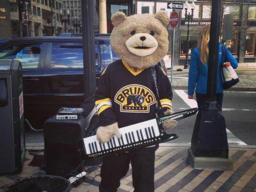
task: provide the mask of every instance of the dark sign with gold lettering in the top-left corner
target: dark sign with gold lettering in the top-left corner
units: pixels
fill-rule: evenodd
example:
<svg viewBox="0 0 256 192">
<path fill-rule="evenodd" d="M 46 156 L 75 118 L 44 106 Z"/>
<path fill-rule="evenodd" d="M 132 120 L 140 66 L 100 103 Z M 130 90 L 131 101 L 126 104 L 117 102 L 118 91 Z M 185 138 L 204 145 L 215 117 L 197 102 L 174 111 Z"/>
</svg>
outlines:
<svg viewBox="0 0 256 192">
<path fill-rule="evenodd" d="M 9 0 L 1 0 L 0 3 L 0 39 L 11 38 L 11 15 Z"/>
</svg>

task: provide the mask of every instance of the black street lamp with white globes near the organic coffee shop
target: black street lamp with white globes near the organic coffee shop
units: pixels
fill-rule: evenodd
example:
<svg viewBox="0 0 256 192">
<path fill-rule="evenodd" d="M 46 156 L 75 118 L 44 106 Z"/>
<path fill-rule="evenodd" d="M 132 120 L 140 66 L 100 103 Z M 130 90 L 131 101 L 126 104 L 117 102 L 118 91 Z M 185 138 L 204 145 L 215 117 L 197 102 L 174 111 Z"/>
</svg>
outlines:
<svg viewBox="0 0 256 192">
<path fill-rule="evenodd" d="M 188 14 L 188 9 L 191 6 L 191 14 L 189 12 Z M 194 16 L 194 9 L 195 9 L 195 2 L 193 0 L 192 4 L 189 5 L 188 1 L 186 1 L 185 5 L 185 22 L 188 22 L 188 31 L 187 31 L 187 51 L 186 51 L 186 63 L 184 65 L 184 69 L 189 68 L 189 60 L 188 60 L 188 54 L 189 54 L 189 36 L 190 36 L 190 29 L 189 29 L 189 22 L 193 21 L 193 16 Z"/>
</svg>

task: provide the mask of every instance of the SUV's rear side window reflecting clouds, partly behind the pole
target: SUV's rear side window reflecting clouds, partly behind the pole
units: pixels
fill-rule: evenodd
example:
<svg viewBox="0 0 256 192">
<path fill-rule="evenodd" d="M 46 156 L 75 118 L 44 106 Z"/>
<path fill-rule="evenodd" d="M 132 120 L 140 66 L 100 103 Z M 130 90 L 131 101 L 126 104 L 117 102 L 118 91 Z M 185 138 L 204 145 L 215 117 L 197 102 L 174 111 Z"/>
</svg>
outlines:
<svg viewBox="0 0 256 192">
<path fill-rule="evenodd" d="M 95 63 L 98 66 L 98 48 L 95 46 Z M 82 43 L 53 43 L 50 68 L 83 68 Z"/>
</svg>

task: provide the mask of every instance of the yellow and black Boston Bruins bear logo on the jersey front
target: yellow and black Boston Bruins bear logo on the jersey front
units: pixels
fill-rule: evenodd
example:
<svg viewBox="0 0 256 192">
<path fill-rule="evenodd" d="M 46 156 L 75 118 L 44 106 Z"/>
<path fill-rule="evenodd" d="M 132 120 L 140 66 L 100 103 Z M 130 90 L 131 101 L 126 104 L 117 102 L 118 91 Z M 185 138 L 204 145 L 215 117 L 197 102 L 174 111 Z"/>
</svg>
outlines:
<svg viewBox="0 0 256 192">
<path fill-rule="evenodd" d="M 114 101 L 120 111 L 126 113 L 149 113 L 150 106 L 156 103 L 153 92 L 143 85 L 126 85 L 117 91 Z"/>
</svg>

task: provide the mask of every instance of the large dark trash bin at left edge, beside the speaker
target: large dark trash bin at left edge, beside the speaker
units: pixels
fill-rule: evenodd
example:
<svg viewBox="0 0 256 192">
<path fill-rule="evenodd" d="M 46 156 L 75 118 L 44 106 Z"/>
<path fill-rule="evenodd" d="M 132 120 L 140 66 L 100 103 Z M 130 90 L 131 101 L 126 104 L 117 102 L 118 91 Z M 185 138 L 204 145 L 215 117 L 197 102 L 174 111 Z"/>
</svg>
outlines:
<svg viewBox="0 0 256 192">
<path fill-rule="evenodd" d="M 25 158 L 22 68 L 0 60 L 0 174 L 19 172 Z"/>
</svg>

